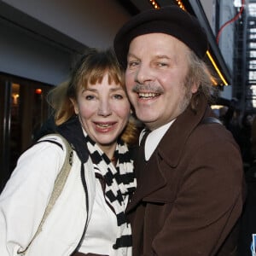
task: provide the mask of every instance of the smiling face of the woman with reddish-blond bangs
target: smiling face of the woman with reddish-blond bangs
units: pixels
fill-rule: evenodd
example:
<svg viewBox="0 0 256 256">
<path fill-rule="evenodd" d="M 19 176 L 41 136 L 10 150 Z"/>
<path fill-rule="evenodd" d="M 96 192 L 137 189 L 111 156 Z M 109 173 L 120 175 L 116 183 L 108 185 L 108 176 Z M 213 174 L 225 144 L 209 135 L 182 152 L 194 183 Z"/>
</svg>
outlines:
<svg viewBox="0 0 256 256">
<path fill-rule="evenodd" d="M 113 81 L 109 84 L 106 73 L 102 83 L 88 84 L 87 88 L 81 86 L 73 105 L 90 138 L 104 152 L 109 147 L 115 149 L 131 110 L 124 88 Z"/>
</svg>

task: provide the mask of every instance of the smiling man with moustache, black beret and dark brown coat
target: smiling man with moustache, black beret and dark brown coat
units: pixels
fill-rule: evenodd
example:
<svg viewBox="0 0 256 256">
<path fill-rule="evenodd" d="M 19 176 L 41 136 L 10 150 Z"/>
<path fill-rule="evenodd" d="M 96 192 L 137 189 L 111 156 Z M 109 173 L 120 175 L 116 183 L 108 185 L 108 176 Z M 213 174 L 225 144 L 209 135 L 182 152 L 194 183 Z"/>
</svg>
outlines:
<svg viewBox="0 0 256 256">
<path fill-rule="evenodd" d="M 206 33 L 176 6 L 151 9 L 120 28 L 114 49 L 137 118 L 151 131 L 126 210 L 133 255 L 236 255 L 242 162 L 207 103 Z"/>
</svg>

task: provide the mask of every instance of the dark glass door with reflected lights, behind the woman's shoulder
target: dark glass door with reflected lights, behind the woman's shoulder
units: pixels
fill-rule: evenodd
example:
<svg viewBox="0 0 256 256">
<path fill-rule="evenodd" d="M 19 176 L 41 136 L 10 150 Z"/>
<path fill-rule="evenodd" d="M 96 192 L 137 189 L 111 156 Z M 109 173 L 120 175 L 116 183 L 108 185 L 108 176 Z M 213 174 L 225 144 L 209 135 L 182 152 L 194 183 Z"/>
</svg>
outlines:
<svg viewBox="0 0 256 256">
<path fill-rule="evenodd" d="M 0 173 L 2 191 L 16 162 L 49 117 L 52 85 L 0 73 Z"/>
</svg>

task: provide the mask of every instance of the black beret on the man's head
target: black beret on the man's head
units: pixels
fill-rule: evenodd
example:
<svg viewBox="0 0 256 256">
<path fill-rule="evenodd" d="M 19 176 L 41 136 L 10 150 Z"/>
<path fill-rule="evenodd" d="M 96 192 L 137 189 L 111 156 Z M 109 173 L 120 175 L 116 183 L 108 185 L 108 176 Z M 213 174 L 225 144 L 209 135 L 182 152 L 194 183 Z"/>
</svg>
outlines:
<svg viewBox="0 0 256 256">
<path fill-rule="evenodd" d="M 131 17 L 117 32 L 113 49 L 119 63 L 126 67 L 129 45 L 133 38 L 148 33 L 166 33 L 192 49 L 201 59 L 207 51 L 207 34 L 193 15 L 176 5 L 150 9 Z"/>
</svg>

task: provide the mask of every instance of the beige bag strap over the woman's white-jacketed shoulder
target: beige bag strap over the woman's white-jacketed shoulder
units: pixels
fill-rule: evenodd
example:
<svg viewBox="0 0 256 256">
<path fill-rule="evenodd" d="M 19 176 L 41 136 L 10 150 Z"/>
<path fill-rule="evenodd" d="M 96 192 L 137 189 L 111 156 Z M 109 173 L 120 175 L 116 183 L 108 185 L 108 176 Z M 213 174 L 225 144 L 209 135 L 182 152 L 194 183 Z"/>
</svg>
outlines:
<svg viewBox="0 0 256 256">
<path fill-rule="evenodd" d="M 68 174 L 69 174 L 69 172 L 71 170 L 71 166 L 73 164 L 73 148 L 71 148 L 71 145 L 67 142 L 65 137 L 62 137 L 60 134 L 49 134 L 49 135 L 44 136 L 38 143 L 41 143 L 41 142 L 55 143 L 62 148 L 61 143 L 57 143 L 57 142 L 55 142 L 55 140 L 53 140 L 52 138 L 49 137 L 51 135 L 54 135 L 55 137 L 61 137 L 62 142 L 64 143 L 65 147 L 67 148 L 67 154 L 66 154 L 63 166 L 61 166 L 61 171 L 59 172 L 59 174 L 57 175 L 57 177 L 55 179 L 54 189 L 52 191 L 52 194 L 50 195 L 48 205 L 45 208 L 44 216 L 38 226 L 37 232 L 32 237 L 32 241 L 34 241 L 34 239 L 41 232 L 45 219 L 48 217 L 49 212 L 51 211 L 52 207 L 54 207 L 55 201 L 61 195 L 61 191 L 67 181 Z M 28 247 L 32 244 L 32 241 L 30 241 L 30 243 L 28 244 L 28 246 L 26 247 L 26 249 L 24 251 L 19 252 L 20 255 L 25 255 Z"/>
</svg>

